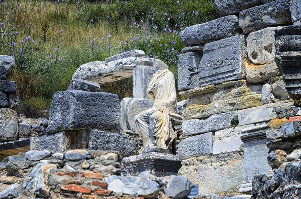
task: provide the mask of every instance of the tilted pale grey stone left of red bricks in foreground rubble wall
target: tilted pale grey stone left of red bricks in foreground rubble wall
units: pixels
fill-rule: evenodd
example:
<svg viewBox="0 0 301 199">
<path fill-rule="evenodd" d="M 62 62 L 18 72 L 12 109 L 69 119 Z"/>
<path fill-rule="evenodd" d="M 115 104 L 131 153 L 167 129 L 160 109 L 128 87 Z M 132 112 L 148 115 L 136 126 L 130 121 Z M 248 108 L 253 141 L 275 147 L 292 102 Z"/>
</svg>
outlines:
<svg viewBox="0 0 301 199">
<path fill-rule="evenodd" d="M 49 195 L 50 188 L 48 186 L 48 176 L 51 169 L 57 169 L 55 164 L 49 164 L 46 162 L 38 163 L 25 179 L 23 188 L 30 192 L 33 192 L 37 196 L 47 197 Z"/>
</svg>

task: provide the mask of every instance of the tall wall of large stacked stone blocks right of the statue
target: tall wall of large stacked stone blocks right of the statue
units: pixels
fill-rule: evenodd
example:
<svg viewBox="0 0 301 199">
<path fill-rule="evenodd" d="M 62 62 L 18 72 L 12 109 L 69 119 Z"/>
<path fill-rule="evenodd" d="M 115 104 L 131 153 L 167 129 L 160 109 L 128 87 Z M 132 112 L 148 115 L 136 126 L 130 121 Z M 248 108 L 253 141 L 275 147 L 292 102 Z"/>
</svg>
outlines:
<svg viewBox="0 0 301 199">
<path fill-rule="evenodd" d="M 267 161 L 269 122 L 293 107 L 275 62 L 275 31 L 300 20 L 299 1 L 215 0 L 224 17 L 185 28 L 179 57 L 180 175 L 199 193 L 250 194 Z M 296 40 L 295 40 L 296 41 Z M 293 82 L 291 82 L 293 84 Z M 239 193 L 240 192 L 240 193 Z M 264 198 L 264 197 L 262 197 Z"/>
</svg>

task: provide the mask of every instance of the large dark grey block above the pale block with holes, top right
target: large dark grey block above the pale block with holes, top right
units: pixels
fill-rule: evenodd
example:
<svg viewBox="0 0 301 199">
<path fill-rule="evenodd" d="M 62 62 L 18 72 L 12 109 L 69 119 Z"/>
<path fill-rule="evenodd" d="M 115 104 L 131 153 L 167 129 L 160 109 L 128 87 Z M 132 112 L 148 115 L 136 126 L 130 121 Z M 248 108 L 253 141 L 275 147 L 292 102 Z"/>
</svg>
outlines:
<svg viewBox="0 0 301 199">
<path fill-rule="evenodd" d="M 240 12 L 239 26 L 248 34 L 269 26 L 291 24 L 290 0 L 276 0 Z"/>
</svg>

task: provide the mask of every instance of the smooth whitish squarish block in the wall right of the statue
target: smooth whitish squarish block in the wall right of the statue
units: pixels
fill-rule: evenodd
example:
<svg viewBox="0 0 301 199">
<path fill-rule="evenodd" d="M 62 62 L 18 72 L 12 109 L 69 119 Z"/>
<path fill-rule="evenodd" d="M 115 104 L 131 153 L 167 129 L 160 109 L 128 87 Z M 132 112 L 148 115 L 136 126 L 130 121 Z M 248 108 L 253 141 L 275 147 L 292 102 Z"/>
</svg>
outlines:
<svg viewBox="0 0 301 199">
<path fill-rule="evenodd" d="M 242 150 L 243 142 L 240 139 L 240 133 L 243 128 L 246 127 L 238 126 L 216 131 L 212 153 L 219 154 Z"/>
</svg>

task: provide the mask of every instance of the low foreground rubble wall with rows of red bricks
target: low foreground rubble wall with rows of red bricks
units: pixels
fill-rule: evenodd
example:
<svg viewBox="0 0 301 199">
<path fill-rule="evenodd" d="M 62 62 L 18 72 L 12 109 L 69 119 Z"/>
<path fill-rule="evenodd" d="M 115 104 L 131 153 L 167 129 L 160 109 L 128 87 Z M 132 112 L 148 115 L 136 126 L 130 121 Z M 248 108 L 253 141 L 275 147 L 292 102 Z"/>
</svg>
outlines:
<svg viewBox="0 0 301 199">
<path fill-rule="evenodd" d="M 183 198 L 195 186 L 184 176 L 120 176 L 116 151 L 31 150 L 0 163 L 0 198 Z"/>
</svg>

